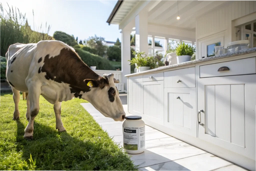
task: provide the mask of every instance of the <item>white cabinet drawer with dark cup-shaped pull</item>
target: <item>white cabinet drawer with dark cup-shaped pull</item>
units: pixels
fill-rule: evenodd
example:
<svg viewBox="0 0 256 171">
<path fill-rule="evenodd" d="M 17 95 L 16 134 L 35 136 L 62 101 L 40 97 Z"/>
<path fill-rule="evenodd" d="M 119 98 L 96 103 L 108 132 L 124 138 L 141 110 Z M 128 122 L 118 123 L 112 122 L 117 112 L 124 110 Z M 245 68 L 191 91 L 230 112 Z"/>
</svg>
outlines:
<svg viewBox="0 0 256 171">
<path fill-rule="evenodd" d="M 221 67 L 225 69 L 221 71 Z M 200 78 L 255 74 L 256 57 L 202 65 L 199 68 Z"/>
</svg>

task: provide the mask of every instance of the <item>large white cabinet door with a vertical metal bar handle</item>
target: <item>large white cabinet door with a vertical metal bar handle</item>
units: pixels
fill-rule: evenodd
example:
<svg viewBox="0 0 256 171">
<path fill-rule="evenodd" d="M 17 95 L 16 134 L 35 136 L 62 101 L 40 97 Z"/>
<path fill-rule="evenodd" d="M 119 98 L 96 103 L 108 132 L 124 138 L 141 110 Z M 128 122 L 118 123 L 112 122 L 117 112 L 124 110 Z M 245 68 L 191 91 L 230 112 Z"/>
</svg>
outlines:
<svg viewBox="0 0 256 171">
<path fill-rule="evenodd" d="M 199 78 L 197 99 L 199 138 L 256 160 L 256 75 Z"/>
</svg>

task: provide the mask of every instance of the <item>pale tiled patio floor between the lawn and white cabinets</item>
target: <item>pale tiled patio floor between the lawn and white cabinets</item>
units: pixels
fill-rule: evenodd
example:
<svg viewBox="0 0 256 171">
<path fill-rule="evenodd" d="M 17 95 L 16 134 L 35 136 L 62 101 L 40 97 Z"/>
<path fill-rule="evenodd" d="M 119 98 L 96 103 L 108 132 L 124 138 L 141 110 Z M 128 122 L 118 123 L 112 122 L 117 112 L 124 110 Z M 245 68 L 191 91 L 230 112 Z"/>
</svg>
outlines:
<svg viewBox="0 0 256 171">
<path fill-rule="evenodd" d="M 120 93 L 126 115 L 132 115 L 127 110 L 127 95 Z M 123 132 L 122 123 L 103 116 L 90 103 L 81 105 L 94 117 L 95 121 L 101 125 L 102 129 L 108 132 L 113 141 L 122 146 Z M 237 165 L 222 158 L 212 155 L 204 150 L 180 141 L 172 136 L 160 132 L 148 125 L 145 126 L 146 149 L 141 154 L 131 155 L 135 165 L 139 165 L 140 170 L 217 170 L 217 171 L 244 171 Z"/>
</svg>

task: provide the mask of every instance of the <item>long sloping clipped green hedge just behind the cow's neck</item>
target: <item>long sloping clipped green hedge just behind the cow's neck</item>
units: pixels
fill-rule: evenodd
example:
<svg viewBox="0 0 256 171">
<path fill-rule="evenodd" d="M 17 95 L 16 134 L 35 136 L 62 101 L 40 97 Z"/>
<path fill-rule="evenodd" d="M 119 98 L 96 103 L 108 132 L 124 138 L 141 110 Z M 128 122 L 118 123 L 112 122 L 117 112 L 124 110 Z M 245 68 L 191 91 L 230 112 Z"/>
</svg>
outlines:
<svg viewBox="0 0 256 171">
<path fill-rule="evenodd" d="M 98 56 L 91 54 L 90 52 L 84 51 L 80 48 L 74 48 L 80 58 L 90 67 L 90 66 L 96 66 L 96 69 L 98 70 L 115 70 L 115 68 L 110 64 L 109 60 Z"/>
</svg>

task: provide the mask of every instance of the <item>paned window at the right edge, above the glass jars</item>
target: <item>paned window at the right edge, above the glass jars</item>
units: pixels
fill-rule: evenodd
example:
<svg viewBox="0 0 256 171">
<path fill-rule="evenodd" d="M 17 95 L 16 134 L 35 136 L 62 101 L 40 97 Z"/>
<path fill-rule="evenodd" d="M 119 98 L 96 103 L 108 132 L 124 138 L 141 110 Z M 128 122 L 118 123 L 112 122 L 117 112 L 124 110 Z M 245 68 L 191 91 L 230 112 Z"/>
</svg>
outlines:
<svg viewBox="0 0 256 171">
<path fill-rule="evenodd" d="M 256 47 L 256 22 L 241 26 L 241 40 L 249 40 L 250 47 Z"/>
</svg>

